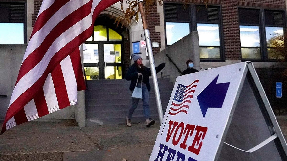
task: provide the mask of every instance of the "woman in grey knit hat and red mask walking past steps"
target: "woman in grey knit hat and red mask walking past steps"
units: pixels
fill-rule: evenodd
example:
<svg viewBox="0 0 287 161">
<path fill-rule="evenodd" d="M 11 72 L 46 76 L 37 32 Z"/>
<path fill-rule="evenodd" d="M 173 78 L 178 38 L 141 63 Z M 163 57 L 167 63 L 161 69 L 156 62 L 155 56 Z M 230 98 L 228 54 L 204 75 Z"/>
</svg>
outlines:
<svg viewBox="0 0 287 161">
<path fill-rule="evenodd" d="M 142 85 L 142 102 L 144 106 L 144 115 L 146 118 L 146 127 L 150 127 L 155 123 L 154 119 L 150 118 L 150 107 L 149 107 L 149 91 L 150 91 L 150 79 L 149 76 L 152 76 L 150 72 L 150 68 L 144 66 L 142 64 L 141 56 L 137 54 L 131 55 L 134 63 L 129 67 L 127 74 L 125 76 L 126 80 L 131 80 L 131 85 L 129 86 L 129 90 L 133 91 L 135 89 L 135 85 L 137 82 L 137 77 L 139 77 L 137 82 L 137 87 L 141 87 Z M 162 63 L 156 67 L 156 72 L 162 70 L 165 66 L 165 63 Z M 141 82 L 142 77 L 142 82 Z M 127 126 L 131 126 L 131 115 L 133 115 L 133 111 L 137 108 L 139 103 L 139 99 L 132 98 L 133 103 L 131 108 L 129 109 L 129 113 L 126 117 Z"/>
</svg>

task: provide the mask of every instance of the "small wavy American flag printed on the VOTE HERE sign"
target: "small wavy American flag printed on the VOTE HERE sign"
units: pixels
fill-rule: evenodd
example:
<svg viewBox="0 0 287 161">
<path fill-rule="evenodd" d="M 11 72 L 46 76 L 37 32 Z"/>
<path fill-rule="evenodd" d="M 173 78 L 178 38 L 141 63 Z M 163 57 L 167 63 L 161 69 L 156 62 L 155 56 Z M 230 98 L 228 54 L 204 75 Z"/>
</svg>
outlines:
<svg viewBox="0 0 287 161">
<path fill-rule="evenodd" d="M 178 113 L 184 112 L 187 113 L 187 109 L 189 109 L 189 105 L 191 103 L 191 99 L 193 97 L 193 93 L 195 92 L 195 88 L 199 80 L 195 80 L 188 86 L 184 86 L 179 84 L 177 86 L 177 90 L 175 91 L 174 98 L 168 112 L 169 115 L 176 115 Z"/>
</svg>

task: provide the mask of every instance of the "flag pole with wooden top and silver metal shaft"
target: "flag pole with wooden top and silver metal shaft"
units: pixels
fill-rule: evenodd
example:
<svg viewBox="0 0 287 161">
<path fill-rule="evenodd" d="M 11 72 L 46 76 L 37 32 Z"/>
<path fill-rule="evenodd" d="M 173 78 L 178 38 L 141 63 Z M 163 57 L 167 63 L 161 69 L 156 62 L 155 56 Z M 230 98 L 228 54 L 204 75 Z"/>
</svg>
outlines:
<svg viewBox="0 0 287 161">
<path fill-rule="evenodd" d="M 144 12 L 143 0 L 138 0 L 138 5 L 139 5 L 139 11 L 141 13 L 141 20 L 143 22 L 143 27 L 144 27 L 144 36 L 146 38 L 146 48 L 148 51 L 148 60 L 150 62 L 152 81 L 154 84 L 154 92 L 156 94 L 156 105 L 158 107 L 158 117 L 160 119 L 160 122 L 162 123 L 163 114 L 162 114 L 162 105 L 161 105 L 161 100 L 160 100 L 160 92 L 158 89 L 158 80 L 156 78 L 156 68 L 154 66 L 154 56 L 152 54 L 152 45 L 150 42 L 150 32 L 148 31 L 148 27 L 146 24 L 146 15 Z"/>
</svg>

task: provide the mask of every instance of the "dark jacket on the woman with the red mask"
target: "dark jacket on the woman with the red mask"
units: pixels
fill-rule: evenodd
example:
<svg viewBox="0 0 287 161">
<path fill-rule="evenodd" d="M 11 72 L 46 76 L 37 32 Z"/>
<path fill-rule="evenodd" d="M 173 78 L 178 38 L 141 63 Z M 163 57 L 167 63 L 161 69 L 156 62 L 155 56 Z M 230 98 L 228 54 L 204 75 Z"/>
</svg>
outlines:
<svg viewBox="0 0 287 161">
<path fill-rule="evenodd" d="M 165 63 L 160 64 L 159 66 L 156 67 L 156 72 L 159 72 L 162 70 L 165 66 Z M 144 66 L 143 69 L 139 69 L 135 63 L 129 67 L 129 70 L 127 71 L 127 74 L 125 76 L 126 80 L 131 80 L 131 85 L 129 86 L 129 90 L 133 91 L 135 89 L 135 84 L 137 83 L 137 77 L 138 73 L 141 73 L 143 76 L 143 82 L 146 84 L 146 87 L 148 88 L 148 91 L 150 91 L 150 79 L 148 78 L 149 76 L 152 76 L 150 72 L 150 68 Z M 141 76 L 139 77 L 138 82 L 141 82 Z"/>
</svg>

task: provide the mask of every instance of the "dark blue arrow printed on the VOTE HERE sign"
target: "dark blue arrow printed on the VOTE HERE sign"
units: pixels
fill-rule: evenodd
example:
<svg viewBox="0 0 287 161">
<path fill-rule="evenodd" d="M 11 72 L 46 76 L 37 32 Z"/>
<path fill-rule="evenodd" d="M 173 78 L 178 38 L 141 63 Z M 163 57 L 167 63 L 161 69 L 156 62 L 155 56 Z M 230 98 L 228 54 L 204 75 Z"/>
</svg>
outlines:
<svg viewBox="0 0 287 161">
<path fill-rule="evenodd" d="M 219 74 L 196 97 L 203 118 L 208 108 L 221 108 L 230 82 L 216 84 Z"/>
</svg>

